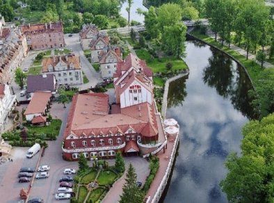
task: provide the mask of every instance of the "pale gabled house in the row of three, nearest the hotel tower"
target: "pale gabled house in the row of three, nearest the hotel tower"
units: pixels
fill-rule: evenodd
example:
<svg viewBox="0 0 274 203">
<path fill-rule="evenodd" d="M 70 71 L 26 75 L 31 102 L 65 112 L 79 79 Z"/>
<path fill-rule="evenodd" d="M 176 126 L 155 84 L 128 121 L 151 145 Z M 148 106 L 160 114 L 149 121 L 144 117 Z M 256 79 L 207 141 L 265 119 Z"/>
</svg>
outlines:
<svg viewBox="0 0 274 203">
<path fill-rule="evenodd" d="M 102 78 L 113 78 L 117 63 L 122 62 L 120 48 L 109 49 L 99 61 Z"/>
</svg>

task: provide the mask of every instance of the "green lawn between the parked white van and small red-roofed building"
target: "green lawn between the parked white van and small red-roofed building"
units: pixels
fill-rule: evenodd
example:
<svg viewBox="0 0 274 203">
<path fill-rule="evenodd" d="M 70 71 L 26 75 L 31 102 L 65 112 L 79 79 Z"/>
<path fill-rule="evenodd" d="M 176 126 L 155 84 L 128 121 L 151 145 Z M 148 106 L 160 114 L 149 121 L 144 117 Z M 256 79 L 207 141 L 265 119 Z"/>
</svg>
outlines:
<svg viewBox="0 0 274 203">
<path fill-rule="evenodd" d="M 27 129 L 30 133 L 38 133 L 38 134 L 54 134 L 58 136 L 62 121 L 58 119 L 54 119 L 51 121 L 49 126 L 45 127 L 38 127 L 38 126 L 31 126 L 27 125 Z"/>
</svg>

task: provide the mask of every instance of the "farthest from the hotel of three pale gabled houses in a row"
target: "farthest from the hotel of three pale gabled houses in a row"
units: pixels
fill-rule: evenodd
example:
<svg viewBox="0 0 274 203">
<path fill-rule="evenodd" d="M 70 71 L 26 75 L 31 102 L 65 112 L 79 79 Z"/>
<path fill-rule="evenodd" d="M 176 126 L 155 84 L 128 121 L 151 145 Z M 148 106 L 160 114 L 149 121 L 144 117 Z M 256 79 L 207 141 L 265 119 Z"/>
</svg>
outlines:
<svg viewBox="0 0 274 203">
<path fill-rule="evenodd" d="M 83 27 L 79 33 L 82 49 L 90 49 L 90 42 L 97 40 L 98 35 L 99 31 L 95 24 L 83 24 Z"/>
</svg>

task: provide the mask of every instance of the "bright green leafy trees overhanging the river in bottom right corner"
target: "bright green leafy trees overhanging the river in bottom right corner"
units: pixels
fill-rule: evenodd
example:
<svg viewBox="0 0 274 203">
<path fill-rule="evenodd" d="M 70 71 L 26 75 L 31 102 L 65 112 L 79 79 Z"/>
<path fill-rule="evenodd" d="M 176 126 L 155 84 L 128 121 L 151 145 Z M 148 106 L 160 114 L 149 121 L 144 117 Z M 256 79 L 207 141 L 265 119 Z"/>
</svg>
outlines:
<svg viewBox="0 0 274 203">
<path fill-rule="evenodd" d="M 229 202 L 273 202 L 274 114 L 243 127 L 241 154 L 230 154 L 220 186 Z"/>
</svg>

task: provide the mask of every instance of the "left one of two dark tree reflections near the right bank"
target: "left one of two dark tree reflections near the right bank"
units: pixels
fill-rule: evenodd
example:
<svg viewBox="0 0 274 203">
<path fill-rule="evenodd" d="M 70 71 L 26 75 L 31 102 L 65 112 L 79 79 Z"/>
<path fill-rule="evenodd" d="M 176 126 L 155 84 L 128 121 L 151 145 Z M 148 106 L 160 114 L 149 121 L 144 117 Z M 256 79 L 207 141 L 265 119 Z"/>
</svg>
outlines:
<svg viewBox="0 0 274 203">
<path fill-rule="evenodd" d="M 232 60 L 220 51 L 211 51 L 213 56 L 209 58 L 209 65 L 204 69 L 204 83 L 216 88 L 219 95 L 227 97 L 232 89 Z"/>
</svg>

